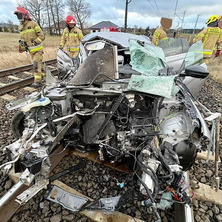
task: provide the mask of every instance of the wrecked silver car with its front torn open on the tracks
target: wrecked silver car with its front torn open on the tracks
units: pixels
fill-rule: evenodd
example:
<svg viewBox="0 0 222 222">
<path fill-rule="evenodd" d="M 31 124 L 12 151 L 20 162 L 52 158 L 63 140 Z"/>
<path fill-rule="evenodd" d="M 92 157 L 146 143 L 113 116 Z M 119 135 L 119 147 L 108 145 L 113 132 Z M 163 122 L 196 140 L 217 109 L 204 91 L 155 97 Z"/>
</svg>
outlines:
<svg viewBox="0 0 222 222">
<path fill-rule="evenodd" d="M 20 204 L 49 183 L 49 156 L 62 143 L 82 152 L 97 150 L 101 162 L 127 160 L 158 221 L 157 209 L 174 202 L 191 205 L 186 171 L 204 142 L 213 143 L 204 119 L 213 114 L 194 96 L 209 74 L 202 44 L 184 52 L 181 44 L 174 50 L 176 40 L 162 49 L 146 37 L 108 36 L 118 34 L 125 35 L 86 37 L 82 50 L 87 51 L 78 63 L 67 60 L 73 69 L 60 52 L 60 81 L 47 70 L 50 81 L 40 93 L 7 106 L 20 109 L 12 121 L 18 140 L 5 147 L 11 161 L 1 170 L 14 167 L 35 185 L 32 193 L 17 197 Z M 111 199 L 112 210 L 117 199 Z"/>
</svg>

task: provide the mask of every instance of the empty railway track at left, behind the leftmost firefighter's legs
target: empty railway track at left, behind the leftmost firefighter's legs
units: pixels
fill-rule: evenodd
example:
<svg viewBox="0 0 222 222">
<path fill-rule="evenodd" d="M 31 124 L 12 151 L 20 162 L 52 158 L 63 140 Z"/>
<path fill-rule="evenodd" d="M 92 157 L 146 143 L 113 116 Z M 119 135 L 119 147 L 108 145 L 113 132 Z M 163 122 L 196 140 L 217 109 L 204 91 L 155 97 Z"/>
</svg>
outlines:
<svg viewBox="0 0 222 222">
<path fill-rule="evenodd" d="M 51 66 L 52 64 L 56 63 L 56 59 L 44 61 L 47 66 L 50 66 L 50 68 L 53 68 Z M 33 74 L 31 72 L 32 70 L 32 64 L 26 65 L 26 66 L 19 66 L 11 69 L 5 69 L 0 71 L 0 96 L 11 92 L 15 89 L 23 88 L 25 86 L 31 85 L 34 81 Z M 57 70 L 56 68 L 51 69 L 52 74 L 56 74 Z M 19 78 L 17 75 L 24 75 L 25 77 Z M 27 76 L 28 75 L 28 76 Z M 1 79 L 5 78 L 11 78 L 14 81 L 9 83 L 2 83 Z"/>
</svg>

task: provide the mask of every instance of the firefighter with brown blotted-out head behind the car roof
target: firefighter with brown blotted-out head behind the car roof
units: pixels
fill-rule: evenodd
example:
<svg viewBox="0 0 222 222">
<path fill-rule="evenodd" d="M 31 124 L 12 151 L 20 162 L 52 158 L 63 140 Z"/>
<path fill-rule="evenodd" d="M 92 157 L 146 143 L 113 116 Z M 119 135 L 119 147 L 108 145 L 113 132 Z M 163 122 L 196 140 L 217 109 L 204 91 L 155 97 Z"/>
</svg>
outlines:
<svg viewBox="0 0 222 222">
<path fill-rule="evenodd" d="M 158 45 L 159 40 L 168 40 L 166 31 L 172 26 L 172 19 L 162 17 L 160 20 L 161 27 L 157 28 L 153 34 L 152 43 Z"/>
</svg>

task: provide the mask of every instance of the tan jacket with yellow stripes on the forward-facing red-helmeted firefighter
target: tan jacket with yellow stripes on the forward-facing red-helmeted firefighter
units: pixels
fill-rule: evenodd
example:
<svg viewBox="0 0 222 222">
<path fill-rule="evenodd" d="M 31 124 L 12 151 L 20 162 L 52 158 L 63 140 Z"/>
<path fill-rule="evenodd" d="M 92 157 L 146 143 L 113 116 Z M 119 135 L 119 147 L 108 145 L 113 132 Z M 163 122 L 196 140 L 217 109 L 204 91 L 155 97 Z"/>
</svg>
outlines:
<svg viewBox="0 0 222 222">
<path fill-rule="evenodd" d="M 80 29 L 74 26 L 69 30 L 68 27 L 66 27 L 62 33 L 60 45 L 62 47 L 66 46 L 67 50 L 70 52 L 78 51 L 82 39 L 83 34 Z"/>
</svg>

